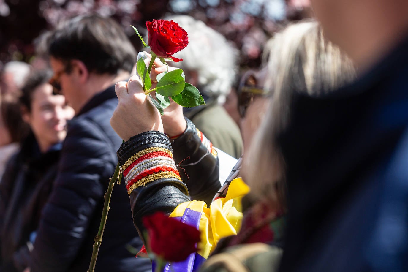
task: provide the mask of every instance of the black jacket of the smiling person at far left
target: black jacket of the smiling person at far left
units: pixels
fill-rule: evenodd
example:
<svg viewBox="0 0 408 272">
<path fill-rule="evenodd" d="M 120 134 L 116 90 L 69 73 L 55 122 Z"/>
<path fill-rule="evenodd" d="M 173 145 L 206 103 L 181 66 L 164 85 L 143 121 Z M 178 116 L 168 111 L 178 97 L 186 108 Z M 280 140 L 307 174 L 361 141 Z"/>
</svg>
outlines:
<svg viewBox="0 0 408 272">
<path fill-rule="evenodd" d="M 42 208 L 57 173 L 61 144 L 40 153 L 34 135 L 9 160 L 0 181 L 0 271 L 22 271 L 30 251 Z"/>
</svg>

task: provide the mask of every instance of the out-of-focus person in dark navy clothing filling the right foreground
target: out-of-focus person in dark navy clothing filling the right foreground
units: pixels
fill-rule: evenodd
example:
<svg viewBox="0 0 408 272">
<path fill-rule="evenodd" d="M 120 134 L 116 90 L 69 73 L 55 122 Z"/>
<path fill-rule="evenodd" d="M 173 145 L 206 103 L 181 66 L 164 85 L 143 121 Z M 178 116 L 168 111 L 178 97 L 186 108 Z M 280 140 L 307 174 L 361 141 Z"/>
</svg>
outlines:
<svg viewBox="0 0 408 272">
<path fill-rule="evenodd" d="M 361 75 L 293 97 L 279 138 L 290 211 L 281 271 L 406 271 L 408 1 L 311 3 Z"/>
</svg>

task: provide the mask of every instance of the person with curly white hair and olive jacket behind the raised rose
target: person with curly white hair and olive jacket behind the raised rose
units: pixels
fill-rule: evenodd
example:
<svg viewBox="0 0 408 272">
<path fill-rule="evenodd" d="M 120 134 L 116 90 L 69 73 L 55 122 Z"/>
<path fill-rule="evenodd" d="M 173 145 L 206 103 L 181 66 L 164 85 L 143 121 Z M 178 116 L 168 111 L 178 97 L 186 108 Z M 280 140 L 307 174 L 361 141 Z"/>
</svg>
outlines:
<svg viewBox="0 0 408 272">
<path fill-rule="evenodd" d="M 171 65 L 183 69 L 186 82 L 196 86 L 206 105 L 184 108 L 190 119 L 213 145 L 239 158 L 242 138 L 237 124 L 222 107 L 236 74 L 238 51 L 217 31 L 187 15 L 170 15 L 188 33 L 188 46 L 174 54 L 182 62 Z"/>
</svg>

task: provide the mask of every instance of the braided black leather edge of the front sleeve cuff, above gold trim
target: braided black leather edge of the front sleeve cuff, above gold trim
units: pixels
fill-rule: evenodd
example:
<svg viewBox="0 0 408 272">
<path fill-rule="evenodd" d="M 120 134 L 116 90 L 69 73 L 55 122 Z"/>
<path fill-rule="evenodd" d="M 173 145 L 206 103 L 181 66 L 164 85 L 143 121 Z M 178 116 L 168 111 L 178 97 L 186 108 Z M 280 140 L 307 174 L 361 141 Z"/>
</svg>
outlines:
<svg viewBox="0 0 408 272">
<path fill-rule="evenodd" d="M 129 141 L 121 144 L 116 155 L 123 165 L 132 155 L 149 147 L 164 147 L 173 152 L 169 137 L 160 131 L 150 130 L 133 136 Z"/>
</svg>

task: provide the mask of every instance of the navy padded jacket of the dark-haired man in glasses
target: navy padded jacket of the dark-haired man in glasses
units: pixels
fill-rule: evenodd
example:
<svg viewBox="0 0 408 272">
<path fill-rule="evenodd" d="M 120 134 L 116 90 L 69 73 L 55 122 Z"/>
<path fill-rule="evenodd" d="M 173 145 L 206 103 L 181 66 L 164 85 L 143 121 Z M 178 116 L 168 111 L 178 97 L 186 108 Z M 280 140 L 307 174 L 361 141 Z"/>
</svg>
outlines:
<svg viewBox="0 0 408 272">
<path fill-rule="evenodd" d="M 109 124 L 117 104 L 112 86 L 95 95 L 69 122 L 58 177 L 35 239 L 31 272 L 88 269 L 104 193 L 122 143 Z M 142 241 L 133 226 L 124 184 L 113 188 L 110 207 L 95 271 L 151 270 L 148 259 L 136 259 L 129 251 L 139 250 Z"/>
</svg>

